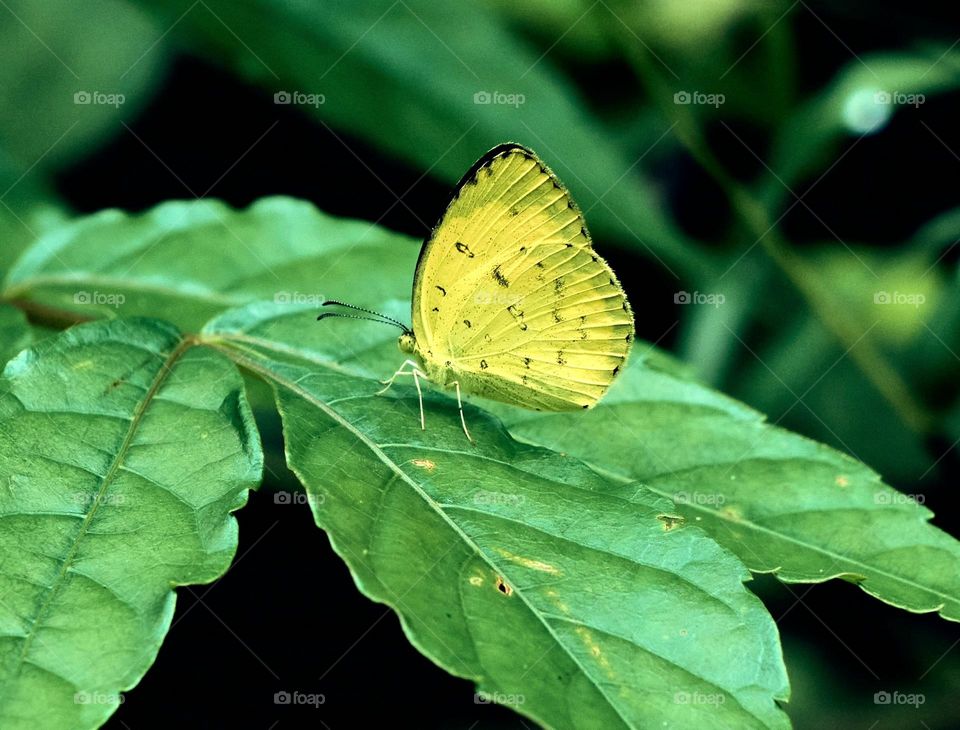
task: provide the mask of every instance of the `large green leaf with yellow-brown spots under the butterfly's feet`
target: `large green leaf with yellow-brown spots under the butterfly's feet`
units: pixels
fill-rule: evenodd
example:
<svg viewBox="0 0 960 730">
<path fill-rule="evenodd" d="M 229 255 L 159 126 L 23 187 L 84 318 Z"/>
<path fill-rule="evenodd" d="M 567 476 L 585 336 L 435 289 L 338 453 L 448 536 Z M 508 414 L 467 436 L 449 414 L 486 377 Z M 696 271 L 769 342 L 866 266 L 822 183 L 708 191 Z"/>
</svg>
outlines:
<svg viewBox="0 0 960 730">
<path fill-rule="evenodd" d="M 360 589 L 480 691 L 553 727 L 784 727 L 773 620 L 748 573 L 637 483 L 524 446 L 493 418 L 346 371 L 309 306 L 248 306 L 204 341 L 272 383 L 288 464 Z M 352 330 L 352 328 L 351 328 Z M 382 341 L 382 338 L 380 338 Z M 340 361 L 340 362 L 338 362 Z"/>
</svg>

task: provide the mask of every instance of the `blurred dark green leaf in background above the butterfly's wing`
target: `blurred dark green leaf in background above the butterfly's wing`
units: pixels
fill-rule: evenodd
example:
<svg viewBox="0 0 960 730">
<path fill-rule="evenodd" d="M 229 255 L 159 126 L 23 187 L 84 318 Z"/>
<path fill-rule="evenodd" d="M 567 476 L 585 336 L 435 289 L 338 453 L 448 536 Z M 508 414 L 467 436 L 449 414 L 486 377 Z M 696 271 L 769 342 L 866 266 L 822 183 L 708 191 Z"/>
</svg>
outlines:
<svg viewBox="0 0 960 730">
<path fill-rule="evenodd" d="M 520 141 L 570 187 L 595 233 L 678 272 L 702 277 L 712 265 L 665 214 L 635 162 L 643 150 L 614 144 L 551 59 L 480 3 L 455 13 L 432 0 L 142 4 L 271 95 L 323 95 L 301 108 L 451 184 L 494 145 Z"/>
</svg>

